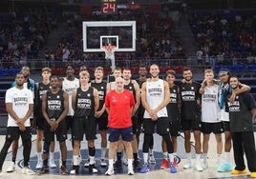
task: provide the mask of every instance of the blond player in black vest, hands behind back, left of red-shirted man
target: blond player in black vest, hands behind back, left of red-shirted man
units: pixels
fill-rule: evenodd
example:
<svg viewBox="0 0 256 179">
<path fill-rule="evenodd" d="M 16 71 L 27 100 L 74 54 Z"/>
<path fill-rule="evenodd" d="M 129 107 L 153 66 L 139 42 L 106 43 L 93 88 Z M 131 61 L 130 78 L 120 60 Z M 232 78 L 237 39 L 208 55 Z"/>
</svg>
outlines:
<svg viewBox="0 0 256 179">
<path fill-rule="evenodd" d="M 70 174 L 76 174 L 79 169 L 79 149 L 83 135 L 86 135 L 89 148 L 89 172 L 96 173 L 95 167 L 95 139 L 96 139 L 96 120 L 95 112 L 99 106 L 98 93 L 95 88 L 89 85 L 90 74 L 86 70 L 79 72 L 81 87 L 72 93 L 72 107 L 74 114 L 74 148 L 73 148 L 73 169 Z"/>
</svg>

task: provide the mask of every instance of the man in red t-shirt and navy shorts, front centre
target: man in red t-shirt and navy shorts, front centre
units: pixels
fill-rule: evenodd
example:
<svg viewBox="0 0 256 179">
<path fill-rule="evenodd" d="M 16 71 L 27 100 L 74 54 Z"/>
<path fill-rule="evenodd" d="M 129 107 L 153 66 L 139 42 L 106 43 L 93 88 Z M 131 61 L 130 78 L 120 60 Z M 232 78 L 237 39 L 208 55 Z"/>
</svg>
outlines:
<svg viewBox="0 0 256 179">
<path fill-rule="evenodd" d="M 115 90 L 111 90 L 106 95 L 105 106 L 109 113 L 109 168 L 106 175 L 114 174 L 114 156 L 117 148 L 117 141 L 121 136 L 121 141 L 126 149 L 128 158 L 128 175 L 134 175 L 133 169 L 133 149 L 131 141 L 133 140 L 132 110 L 135 105 L 133 94 L 124 89 L 124 80 L 121 77 L 116 78 Z"/>
</svg>

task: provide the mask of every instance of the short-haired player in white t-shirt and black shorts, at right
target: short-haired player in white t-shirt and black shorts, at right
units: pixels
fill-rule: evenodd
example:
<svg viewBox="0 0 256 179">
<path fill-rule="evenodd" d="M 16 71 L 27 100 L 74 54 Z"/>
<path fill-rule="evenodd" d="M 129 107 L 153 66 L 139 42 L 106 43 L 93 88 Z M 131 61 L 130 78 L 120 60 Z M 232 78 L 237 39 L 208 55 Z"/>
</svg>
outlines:
<svg viewBox="0 0 256 179">
<path fill-rule="evenodd" d="M 210 133 L 213 132 L 217 143 L 216 163 L 221 164 L 223 151 L 222 133 L 224 132 L 221 121 L 221 108 L 218 103 L 219 85 L 214 82 L 213 70 L 204 70 L 202 83 L 204 92 L 202 94 L 202 132 L 203 132 L 203 169 L 208 168 L 207 153 L 209 148 Z"/>
</svg>

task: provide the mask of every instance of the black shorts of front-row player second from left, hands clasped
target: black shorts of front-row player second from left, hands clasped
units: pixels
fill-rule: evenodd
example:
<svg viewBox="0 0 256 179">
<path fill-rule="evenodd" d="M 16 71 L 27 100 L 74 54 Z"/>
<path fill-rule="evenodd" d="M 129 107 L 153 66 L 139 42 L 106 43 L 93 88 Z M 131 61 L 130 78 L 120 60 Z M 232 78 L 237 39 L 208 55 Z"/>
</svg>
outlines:
<svg viewBox="0 0 256 179">
<path fill-rule="evenodd" d="M 58 124 L 58 128 L 55 131 L 51 131 L 50 129 L 51 129 L 51 127 L 47 123 L 46 128 L 44 129 L 44 137 L 45 137 L 44 140 L 46 142 L 54 141 L 54 134 L 56 134 L 57 141 L 62 142 L 67 139 L 67 123 L 66 123 L 65 119 L 63 119 L 63 121 L 61 121 Z"/>
</svg>

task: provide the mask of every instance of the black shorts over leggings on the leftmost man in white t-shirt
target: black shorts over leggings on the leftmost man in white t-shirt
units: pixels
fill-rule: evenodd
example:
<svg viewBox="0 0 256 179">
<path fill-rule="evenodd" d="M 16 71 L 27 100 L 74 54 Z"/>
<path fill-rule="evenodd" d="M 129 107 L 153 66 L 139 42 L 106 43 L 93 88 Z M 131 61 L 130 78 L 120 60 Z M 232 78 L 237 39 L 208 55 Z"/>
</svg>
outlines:
<svg viewBox="0 0 256 179">
<path fill-rule="evenodd" d="M 25 131 L 21 131 L 19 127 L 7 127 L 6 139 L 18 140 L 19 136 L 21 136 L 22 139 L 31 139 L 31 127 L 26 127 Z"/>
</svg>

